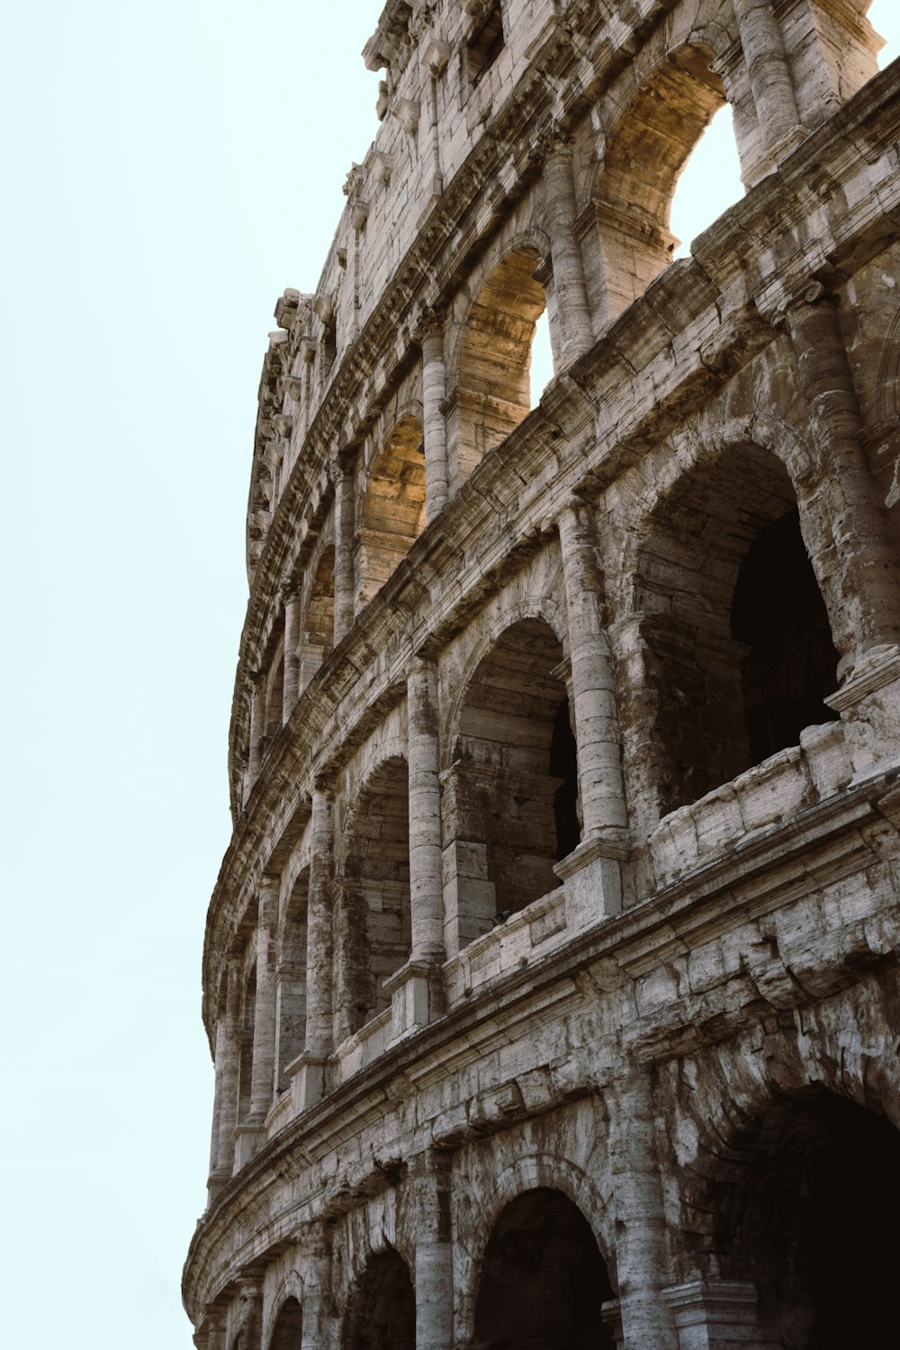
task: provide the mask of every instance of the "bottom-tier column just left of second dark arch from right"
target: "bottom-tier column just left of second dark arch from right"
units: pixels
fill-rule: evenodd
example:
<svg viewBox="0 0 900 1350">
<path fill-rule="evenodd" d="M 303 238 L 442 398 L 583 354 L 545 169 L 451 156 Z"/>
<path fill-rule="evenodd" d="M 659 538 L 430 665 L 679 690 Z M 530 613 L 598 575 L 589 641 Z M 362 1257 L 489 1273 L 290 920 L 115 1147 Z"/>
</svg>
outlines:
<svg viewBox="0 0 900 1350">
<path fill-rule="evenodd" d="M 432 1149 L 410 1158 L 416 1206 L 416 1350 L 453 1345 L 451 1156 Z"/>
</svg>

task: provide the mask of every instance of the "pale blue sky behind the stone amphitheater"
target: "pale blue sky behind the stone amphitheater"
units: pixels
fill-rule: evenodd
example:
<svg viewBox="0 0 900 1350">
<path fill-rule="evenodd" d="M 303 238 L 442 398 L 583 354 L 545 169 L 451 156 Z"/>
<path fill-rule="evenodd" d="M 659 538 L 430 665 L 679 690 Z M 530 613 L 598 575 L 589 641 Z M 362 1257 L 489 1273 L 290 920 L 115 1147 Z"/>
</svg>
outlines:
<svg viewBox="0 0 900 1350">
<path fill-rule="evenodd" d="M 376 130 L 379 8 L 4 7 L 9 1345 L 190 1347 L 255 394 Z"/>
</svg>

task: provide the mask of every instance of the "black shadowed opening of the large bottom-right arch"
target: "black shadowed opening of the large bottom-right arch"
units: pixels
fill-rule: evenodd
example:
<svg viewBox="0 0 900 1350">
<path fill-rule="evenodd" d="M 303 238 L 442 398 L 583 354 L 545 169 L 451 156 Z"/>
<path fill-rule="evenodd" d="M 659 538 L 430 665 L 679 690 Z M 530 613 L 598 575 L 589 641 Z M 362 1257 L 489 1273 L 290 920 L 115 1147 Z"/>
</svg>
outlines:
<svg viewBox="0 0 900 1350">
<path fill-rule="evenodd" d="M 897 1338 L 900 1133 L 824 1092 L 773 1107 L 731 1173 L 716 1233 L 726 1278 L 750 1278 L 766 1343 L 889 1346 Z"/>
</svg>

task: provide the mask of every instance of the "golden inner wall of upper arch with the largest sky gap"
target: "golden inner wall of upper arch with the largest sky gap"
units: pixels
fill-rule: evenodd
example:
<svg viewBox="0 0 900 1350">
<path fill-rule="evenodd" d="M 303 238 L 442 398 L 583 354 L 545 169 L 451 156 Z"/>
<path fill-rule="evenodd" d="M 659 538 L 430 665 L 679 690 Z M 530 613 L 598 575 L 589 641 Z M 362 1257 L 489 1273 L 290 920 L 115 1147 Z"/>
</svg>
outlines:
<svg viewBox="0 0 900 1350">
<path fill-rule="evenodd" d="M 672 261 L 675 185 L 725 89 L 712 53 L 684 46 L 638 89 L 610 135 L 596 184 L 609 319 L 644 294 Z"/>
</svg>

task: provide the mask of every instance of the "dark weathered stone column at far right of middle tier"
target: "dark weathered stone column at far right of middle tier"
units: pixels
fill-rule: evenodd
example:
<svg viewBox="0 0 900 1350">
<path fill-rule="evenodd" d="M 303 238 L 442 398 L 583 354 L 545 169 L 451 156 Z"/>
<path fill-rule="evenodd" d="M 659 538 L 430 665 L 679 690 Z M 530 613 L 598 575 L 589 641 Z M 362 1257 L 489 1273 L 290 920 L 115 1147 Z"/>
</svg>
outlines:
<svg viewBox="0 0 900 1350">
<path fill-rule="evenodd" d="M 862 450 L 862 417 L 834 300 L 815 282 L 787 312 L 815 452 L 815 478 L 842 574 L 828 606 L 843 675 L 869 649 L 900 640 L 900 576 Z"/>
</svg>

